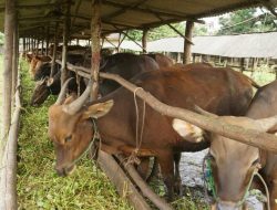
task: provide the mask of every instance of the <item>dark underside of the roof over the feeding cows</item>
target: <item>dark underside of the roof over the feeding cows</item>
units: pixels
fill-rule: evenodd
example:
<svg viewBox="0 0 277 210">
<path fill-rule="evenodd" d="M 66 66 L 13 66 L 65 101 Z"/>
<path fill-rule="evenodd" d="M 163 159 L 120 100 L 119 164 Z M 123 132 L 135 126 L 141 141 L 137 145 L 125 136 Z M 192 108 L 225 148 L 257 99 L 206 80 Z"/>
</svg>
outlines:
<svg viewBox="0 0 277 210">
<path fill-rule="evenodd" d="M 66 0 L 18 0 L 20 36 L 45 36 L 45 28 L 54 32 L 54 22 L 65 17 Z M 71 33 L 90 38 L 92 0 L 71 0 Z M 233 10 L 276 6 L 276 0 L 102 0 L 102 33 L 126 29 L 153 28 L 164 23 L 179 22 L 216 15 Z M 0 0 L 0 31 L 3 32 L 4 0 Z"/>
</svg>

